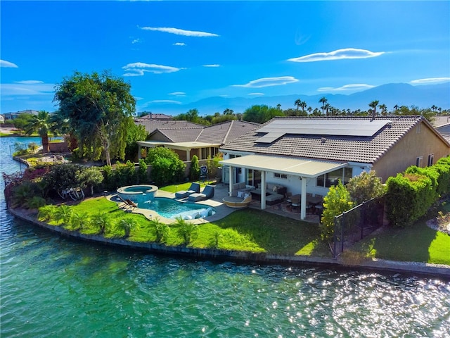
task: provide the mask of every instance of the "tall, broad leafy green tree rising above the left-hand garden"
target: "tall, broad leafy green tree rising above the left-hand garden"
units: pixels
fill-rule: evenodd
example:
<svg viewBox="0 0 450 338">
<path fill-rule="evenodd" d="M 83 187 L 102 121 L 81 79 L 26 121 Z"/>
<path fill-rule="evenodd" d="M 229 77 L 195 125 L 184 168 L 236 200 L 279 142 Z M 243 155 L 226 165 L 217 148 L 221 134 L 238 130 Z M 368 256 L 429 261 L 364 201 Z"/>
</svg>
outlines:
<svg viewBox="0 0 450 338">
<path fill-rule="evenodd" d="M 63 118 L 68 118 L 83 156 L 92 160 L 103 157 L 123 159 L 127 129 L 136 101 L 131 85 L 108 71 L 101 74 L 75 72 L 56 85 L 53 101 L 58 102 Z"/>
</svg>

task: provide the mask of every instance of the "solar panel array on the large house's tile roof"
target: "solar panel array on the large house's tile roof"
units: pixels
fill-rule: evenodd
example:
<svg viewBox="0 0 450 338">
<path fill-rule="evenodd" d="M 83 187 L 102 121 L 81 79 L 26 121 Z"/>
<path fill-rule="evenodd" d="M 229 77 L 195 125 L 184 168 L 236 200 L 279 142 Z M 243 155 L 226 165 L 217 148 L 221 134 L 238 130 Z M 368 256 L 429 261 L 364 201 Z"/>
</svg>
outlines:
<svg viewBox="0 0 450 338">
<path fill-rule="evenodd" d="M 340 119 L 279 119 L 258 130 L 266 135 L 257 142 L 271 143 L 284 134 L 373 136 L 390 120 L 340 120 Z"/>
</svg>

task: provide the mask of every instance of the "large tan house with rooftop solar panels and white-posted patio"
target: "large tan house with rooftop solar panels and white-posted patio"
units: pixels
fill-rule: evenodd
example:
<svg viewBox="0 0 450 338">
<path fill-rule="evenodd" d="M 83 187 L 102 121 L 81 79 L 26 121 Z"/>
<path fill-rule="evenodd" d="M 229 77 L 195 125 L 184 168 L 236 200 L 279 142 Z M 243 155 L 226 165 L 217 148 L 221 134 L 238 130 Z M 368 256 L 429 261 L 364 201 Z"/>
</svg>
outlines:
<svg viewBox="0 0 450 338">
<path fill-rule="evenodd" d="M 325 196 L 329 187 L 363 171 L 385 182 L 410 165 L 432 165 L 450 154 L 449 142 L 423 116 L 274 118 L 226 143 L 223 182 L 266 189 L 266 183 Z M 261 208 L 266 208 L 264 190 Z"/>
</svg>

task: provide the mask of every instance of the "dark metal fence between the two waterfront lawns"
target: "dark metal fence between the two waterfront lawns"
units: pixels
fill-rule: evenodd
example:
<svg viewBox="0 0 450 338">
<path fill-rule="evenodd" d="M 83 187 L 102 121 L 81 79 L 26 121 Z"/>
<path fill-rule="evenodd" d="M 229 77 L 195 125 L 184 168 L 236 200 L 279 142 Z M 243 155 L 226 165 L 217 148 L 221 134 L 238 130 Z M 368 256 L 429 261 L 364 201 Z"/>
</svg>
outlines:
<svg viewBox="0 0 450 338">
<path fill-rule="evenodd" d="M 383 225 L 383 199 L 371 199 L 335 216 L 333 257 Z"/>
</svg>

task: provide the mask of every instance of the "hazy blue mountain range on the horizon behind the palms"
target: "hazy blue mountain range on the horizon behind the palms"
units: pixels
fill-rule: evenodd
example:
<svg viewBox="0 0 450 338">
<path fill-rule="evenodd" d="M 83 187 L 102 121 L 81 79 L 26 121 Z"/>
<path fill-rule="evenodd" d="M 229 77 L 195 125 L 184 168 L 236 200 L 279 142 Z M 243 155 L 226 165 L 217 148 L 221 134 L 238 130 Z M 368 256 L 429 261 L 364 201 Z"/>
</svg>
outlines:
<svg viewBox="0 0 450 338">
<path fill-rule="evenodd" d="M 179 115 L 186 113 L 190 109 L 196 108 L 200 115 L 213 115 L 216 112 L 222 113 L 226 108 L 232 109 L 235 113 L 243 113 L 245 109 L 253 105 L 265 104 L 276 107 L 281 104 L 281 109 L 297 109 L 294 102 L 297 99 L 305 101 L 307 107 L 321 108 L 319 100 L 326 97 L 328 104 L 339 109 L 350 109 L 352 111 L 361 109 L 368 110 L 372 101 L 378 100 L 379 104 L 385 104 L 388 111 L 392 111 L 394 106 L 417 106 L 418 108 L 450 108 L 450 82 L 442 84 L 428 84 L 413 86 L 406 83 L 383 84 L 378 87 L 366 89 L 354 94 L 318 94 L 318 95 L 281 95 L 281 96 L 258 96 L 253 98 L 245 97 L 221 97 L 214 96 L 207 99 L 191 102 L 190 104 L 160 103 L 146 107 L 146 111 L 152 113 L 164 113 L 167 115 Z"/>
</svg>

